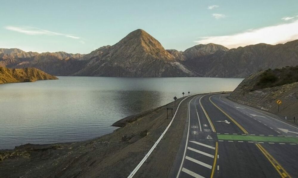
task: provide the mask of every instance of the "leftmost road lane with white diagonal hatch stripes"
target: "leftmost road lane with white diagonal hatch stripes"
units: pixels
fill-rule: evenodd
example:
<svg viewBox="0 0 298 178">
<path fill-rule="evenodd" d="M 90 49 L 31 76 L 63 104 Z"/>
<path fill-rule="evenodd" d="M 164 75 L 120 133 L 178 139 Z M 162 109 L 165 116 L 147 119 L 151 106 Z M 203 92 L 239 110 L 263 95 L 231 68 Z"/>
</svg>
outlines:
<svg viewBox="0 0 298 178">
<path fill-rule="evenodd" d="M 184 155 L 176 177 L 210 177 L 217 159 L 216 135 L 206 116 L 201 114 L 199 100 L 194 97 L 189 103 L 188 136 Z M 214 174 L 214 173 L 213 173 Z"/>
</svg>

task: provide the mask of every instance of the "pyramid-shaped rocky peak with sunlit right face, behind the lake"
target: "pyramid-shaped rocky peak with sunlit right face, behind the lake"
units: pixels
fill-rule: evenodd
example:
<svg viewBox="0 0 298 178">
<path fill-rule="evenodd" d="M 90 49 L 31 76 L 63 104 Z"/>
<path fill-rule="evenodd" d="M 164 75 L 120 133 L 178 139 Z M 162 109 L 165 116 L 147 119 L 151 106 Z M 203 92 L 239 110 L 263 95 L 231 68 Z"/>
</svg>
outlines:
<svg viewBox="0 0 298 178">
<path fill-rule="evenodd" d="M 113 46 L 100 50 L 86 66 L 75 73 L 80 76 L 173 77 L 195 76 L 155 38 L 138 29 Z"/>
</svg>

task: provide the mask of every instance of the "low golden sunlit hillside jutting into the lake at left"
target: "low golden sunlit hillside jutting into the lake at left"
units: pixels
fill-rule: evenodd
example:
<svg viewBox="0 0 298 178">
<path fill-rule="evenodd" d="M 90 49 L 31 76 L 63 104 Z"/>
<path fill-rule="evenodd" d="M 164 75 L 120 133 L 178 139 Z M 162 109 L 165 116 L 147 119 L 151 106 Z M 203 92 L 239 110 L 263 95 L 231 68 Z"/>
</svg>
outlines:
<svg viewBox="0 0 298 178">
<path fill-rule="evenodd" d="M 36 68 L 10 69 L 0 67 L 0 84 L 58 79 Z"/>
</svg>

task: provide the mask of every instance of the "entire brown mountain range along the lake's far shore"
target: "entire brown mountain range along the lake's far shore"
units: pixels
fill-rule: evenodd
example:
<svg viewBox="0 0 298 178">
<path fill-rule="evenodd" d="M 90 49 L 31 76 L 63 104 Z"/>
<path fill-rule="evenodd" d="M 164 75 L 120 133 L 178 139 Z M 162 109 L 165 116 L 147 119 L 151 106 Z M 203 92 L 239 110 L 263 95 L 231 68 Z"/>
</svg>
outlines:
<svg viewBox="0 0 298 178">
<path fill-rule="evenodd" d="M 298 65 L 298 40 L 237 49 L 209 43 L 165 50 L 144 30 L 89 54 L 36 53 L 0 48 L 0 66 L 36 67 L 52 75 L 113 77 L 246 77 L 259 70 Z"/>
</svg>

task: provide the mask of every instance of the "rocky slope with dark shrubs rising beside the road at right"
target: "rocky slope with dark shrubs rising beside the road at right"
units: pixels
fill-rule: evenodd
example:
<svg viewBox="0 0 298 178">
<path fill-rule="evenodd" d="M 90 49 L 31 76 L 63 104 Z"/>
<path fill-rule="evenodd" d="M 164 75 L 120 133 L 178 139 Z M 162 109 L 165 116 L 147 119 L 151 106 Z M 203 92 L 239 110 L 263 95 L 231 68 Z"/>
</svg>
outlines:
<svg viewBox="0 0 298 178">
<path fill-rule="evenodd" d="M 298 66 L 250 75 L 229 96 L 230 100 L 280 116 L 298 118 Z M 281 100 L 277 111 L 277 100 Z"/>
</svg>

